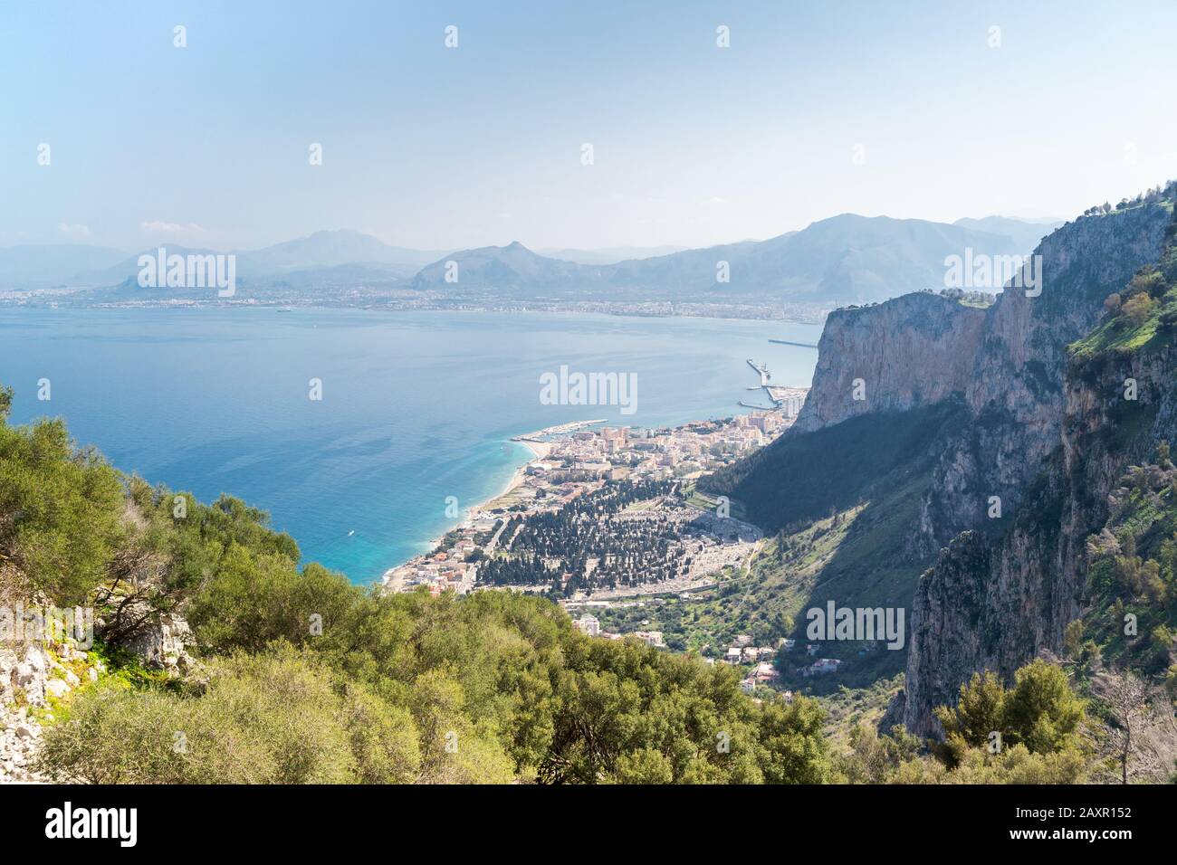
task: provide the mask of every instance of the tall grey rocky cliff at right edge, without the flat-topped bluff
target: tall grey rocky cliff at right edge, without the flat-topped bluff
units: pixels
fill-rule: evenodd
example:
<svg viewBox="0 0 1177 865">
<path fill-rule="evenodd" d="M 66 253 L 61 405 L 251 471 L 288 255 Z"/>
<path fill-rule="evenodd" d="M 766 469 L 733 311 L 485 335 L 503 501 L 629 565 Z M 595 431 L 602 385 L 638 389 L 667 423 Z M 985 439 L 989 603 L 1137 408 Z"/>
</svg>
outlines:
<svg viewBox="0 0 1177 865">
<path fill-rule="evenodd" d="M 932 708 L 950 704 L 972 672 L 1010 677 L 1036 653 L 1060 650 L 1083 610 L 1085 544 L 1106 520 L 1109 497 L 1128 466 L 1177 435 L 1177 351 L 1159 332 L 1148 350 L 1066 347 L 1092 328 L 1109 294 L 1161 260 L 1173 235 L 1170 208 L 1083 220 L 1053 235 L 1043 244 L 1056 267 L 1052 294 L 1038 307 L 1011 295 L 996 315 L 982 357 L 998 374 L 978 375 L 967 395 L 986 421 L 947 443 L 922 530 L 936 538 L 979 523 L 989 491 L 1017 507 L 1008 525 L 995 521 L 1002 531 L 956 537 L 920 579 L 903 707 L 915 732 L 938 732 Z"/>
</svg>

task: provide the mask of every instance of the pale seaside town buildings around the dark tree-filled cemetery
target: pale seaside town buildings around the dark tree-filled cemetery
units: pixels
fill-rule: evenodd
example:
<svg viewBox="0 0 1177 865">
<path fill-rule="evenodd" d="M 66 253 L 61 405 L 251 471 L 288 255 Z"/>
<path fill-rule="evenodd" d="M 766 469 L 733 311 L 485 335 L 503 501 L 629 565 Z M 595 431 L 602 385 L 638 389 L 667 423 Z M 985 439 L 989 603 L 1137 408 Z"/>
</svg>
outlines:
<svg viewBox="0 0 1177 865">
<path fill-rule="evenodd" d="M 792 390 L 805 393 L 804 388 Z M 719 515 L 714 503 L 709 510 L 705 499 L 689 495 L 692 481 L 771 443 L 791 424 L 790 414 L 773 410 L 659 428 L 580 421 L 520 435 L 517 440 L 534 452 L 534 459 L 516 473 L 503 494 L 470 508 L 463 524 L 438 540 L 430 554 L 385 573 L 385 591 L 424 587 L 434 594 L 461 594 L 485 588 L 556 590 L 558 599 L 559 592 L 585 599 L 647 591 L 651 581 L 676 592 L 707 585 L 709 579 L 713 583 L 712 574 L 746 565 L 759 532 L 726 513 Z M 553 555 L 546 546 L 536 546 L 547 535 L 537 534 L 545 524 L 533 526 L 534 519 L 548 514 L 546 519 L 559 521 L 565 519 L 560 517 L 564 508 L 585 497 L 606 501 L 614 495 L 607 491 L 623 490 L 626 484 L 637 485 L 634 488 L 667 486 L 657 487 L 649 500 L 620 510 L 581 508 L 593 514 L 593 525 L 586 531 L 583 523 L 574 524 L 588 545 L 577 560 L 565 561 L 558 552 Z M 609 538 L 614 534 L 625 554 L 611 552 L 614 544 Z M 664 552 L 651 564 L 649 552 L 643 558 L 630 553 L 631 547 Z M 592 552 L 597 548 L 599 554 Z M 532 558 L 536 555 L 540 558 Z M 518 570 L 512 561 L 534 561 L 543 567 L 537 572 L 536 564 L 528 565 L 528 573 L 538 578 L 519 579 L 510 573 Z M 639 639 L 661 644 L 660 634 Z M 758 659 L 753 648 L 746 660 Z"/>
</svg>

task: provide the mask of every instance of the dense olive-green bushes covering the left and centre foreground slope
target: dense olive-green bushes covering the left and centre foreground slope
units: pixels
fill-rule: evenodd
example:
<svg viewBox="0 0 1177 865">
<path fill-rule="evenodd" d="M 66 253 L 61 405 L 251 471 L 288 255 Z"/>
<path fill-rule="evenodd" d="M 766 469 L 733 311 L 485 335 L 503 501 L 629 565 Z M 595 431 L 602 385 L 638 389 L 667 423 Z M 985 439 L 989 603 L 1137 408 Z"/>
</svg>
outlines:
<svg viewBox="0 0 1177 865">
<path fill-rule="evenodd" d="M 11 395 L 0 393 L 7 407 Z M 753 701 L 734 671 L 574 631 L 508 592 L 383 595 L 299 567 L 231 497 L 120 475 L 60 421 L 0 418 L 0 594 L 92 604 L 111 670 L 54 706 L 39 770 L 131 783 L 816 783 L 811 700 Z M 186 679 L 113 648 L 164 613 Z M 48 718 L 44 718 L 48 721 Z"/>
</svg>

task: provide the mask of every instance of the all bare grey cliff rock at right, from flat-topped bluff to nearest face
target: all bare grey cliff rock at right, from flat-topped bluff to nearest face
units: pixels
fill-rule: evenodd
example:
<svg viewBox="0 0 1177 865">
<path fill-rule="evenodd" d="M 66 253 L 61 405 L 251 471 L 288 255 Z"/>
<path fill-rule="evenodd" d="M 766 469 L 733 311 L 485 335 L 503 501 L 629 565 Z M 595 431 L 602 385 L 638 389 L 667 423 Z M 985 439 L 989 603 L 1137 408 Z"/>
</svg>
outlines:
<svg viewBox="0 0 1177 865">
<path fill-rule="evenodd" d="M 1106 297 L 1161 258 L 1170 221 L 1166 206 L 1146 204 L 1069 224 L 1036 251 L 1040 293 L 1008 286 L 984 312 L 918 294 L 830 317 L 796 430 L 953 394 L 970 418 L 933 444 L 932 481 L 907 543 L 917 560 L 936 558 L 910 619 L 902 717 L 911 730 L 935 732 L 931 710 L 953 701 L 975 671 L 1009 676 L 1037 652 L 1058 651 L 1078 616 L 1084 544 L 1106 517 L 1108 493 L 1152 441 L 1177 440 L 1177 385 L 1165 384 L 1177 380 L 1177 358 L 1153 352 L 1069 370 L 1066 352 Z M 1125 408 L 1130 377 L 1142 392 Z M 865 400 L 852 400 L 856 378 Z M 990 497 L 1004 519 L 989 518 Z"/>
</svg>

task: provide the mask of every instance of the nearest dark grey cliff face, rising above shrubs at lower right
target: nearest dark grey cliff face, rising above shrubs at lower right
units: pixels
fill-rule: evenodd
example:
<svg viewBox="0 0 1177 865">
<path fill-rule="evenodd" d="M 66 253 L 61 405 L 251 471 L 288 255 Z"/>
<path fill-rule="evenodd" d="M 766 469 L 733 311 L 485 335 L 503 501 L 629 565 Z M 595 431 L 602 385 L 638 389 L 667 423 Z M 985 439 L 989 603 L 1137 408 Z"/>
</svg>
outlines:
<svg viewBox="0 0 1177 865">
<path fill-rule="evenodd" d="M 935 706 L 951 704 L 975 671 L 1012 676 L 1042 650 L 1058 652 L 1080 614 L 1086 538 L 1108 518 L 1128 466 L 1177 437 L 1177 352 L 1072 362 L 1059 444 L 1002 538 L 965 532 L 920 579 L 911 617 L 904 723 L 938 732 Z M 1125 379 L 1138 399 L 1124 399 Z"/>
</svg>

